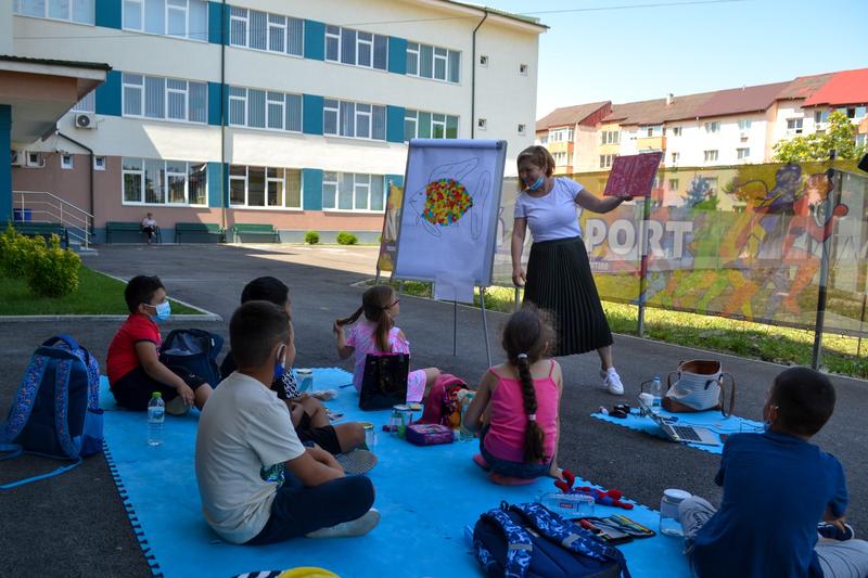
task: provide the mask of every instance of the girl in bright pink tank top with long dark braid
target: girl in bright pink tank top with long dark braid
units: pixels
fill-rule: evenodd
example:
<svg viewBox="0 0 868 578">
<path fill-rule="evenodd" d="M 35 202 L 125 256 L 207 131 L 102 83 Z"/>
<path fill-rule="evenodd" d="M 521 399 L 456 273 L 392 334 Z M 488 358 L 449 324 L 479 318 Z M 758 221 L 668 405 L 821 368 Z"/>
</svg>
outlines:
<svg viewBox="0 0 868 578">
<path fill-rule="evenodd" d="M 503 327 L 507 361 L 483 375 L 464 414 L 464 427 L 482 431 L 477 465 L 495 484 L 529 484 L 561 477 L 558 418 L 563 389 L 561 367 L 547 357 L 554 333 L 533 306 L 512 313 Z"/>
</svg>

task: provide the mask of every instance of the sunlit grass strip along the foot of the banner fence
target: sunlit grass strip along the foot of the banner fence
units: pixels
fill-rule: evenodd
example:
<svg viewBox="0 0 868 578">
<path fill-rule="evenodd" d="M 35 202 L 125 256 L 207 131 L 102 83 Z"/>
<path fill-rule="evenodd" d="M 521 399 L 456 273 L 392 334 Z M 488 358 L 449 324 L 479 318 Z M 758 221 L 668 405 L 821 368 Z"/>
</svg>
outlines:
<svg viewBox="0 0 868 578">
<path fill-rule="evenodd" d="M 393 285 L 397 287 L 398 283 Z M 478 306 L 478 290 L 475 291 L 474 305 Z M 404 292 L 408 295 L 431 297 L 431 283 L 406 281 Z M 513 298 L 513 288 L 489 287 L 485 292 L 485 307 L 494 311 L 512 311 Z M 638 307 L 603 301 L 603 309 L 613 332 L 637 334 Z M 650 339 L 775 363 L 810 364 L 813 331 L 650 307 L 646 309 L 644 321 L 644 336 Z M 498 327 L 494 331 L 497 332 Z M 858 339 L 855 337 L 826 333 L 822 336 L 822 365 L 830 372 L 868 378 L 868 339 L 861 344 L 858 357 L 856 356 Z"/>
</svg>

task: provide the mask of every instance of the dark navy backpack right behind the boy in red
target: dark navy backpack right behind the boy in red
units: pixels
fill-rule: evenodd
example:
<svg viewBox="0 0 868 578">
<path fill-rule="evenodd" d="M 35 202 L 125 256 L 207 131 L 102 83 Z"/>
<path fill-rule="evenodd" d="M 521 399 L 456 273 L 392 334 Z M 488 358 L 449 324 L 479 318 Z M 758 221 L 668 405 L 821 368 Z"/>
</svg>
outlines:
<svg viewBox="0 0 868 578">
<path fill-rule="evenodd" d="M 217 356 L 224 347 L 224 338 L 204 330 L 174 330 L 159 348 L 159 361 L 171 370 L 183 368 L 195 373 L 212 387 L 220 383 Z"/>
</svg>

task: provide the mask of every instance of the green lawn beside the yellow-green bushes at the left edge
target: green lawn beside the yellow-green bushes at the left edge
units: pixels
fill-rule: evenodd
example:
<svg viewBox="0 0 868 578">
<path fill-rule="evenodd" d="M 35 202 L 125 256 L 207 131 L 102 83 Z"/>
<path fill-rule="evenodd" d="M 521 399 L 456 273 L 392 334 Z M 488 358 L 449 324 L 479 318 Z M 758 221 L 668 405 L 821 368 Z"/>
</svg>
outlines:
<svg viewBox="0 0 868 578">
<path fill-rule="evenodd" d="M 59 299 L 36 297 L 23 279 L 0 277 L 0 316 L 127 314 L 124 283 L 87 267 L 78 270 L 78 291 Z M 177 301 L 173 313 L 202 314 Z"/>
</svg>

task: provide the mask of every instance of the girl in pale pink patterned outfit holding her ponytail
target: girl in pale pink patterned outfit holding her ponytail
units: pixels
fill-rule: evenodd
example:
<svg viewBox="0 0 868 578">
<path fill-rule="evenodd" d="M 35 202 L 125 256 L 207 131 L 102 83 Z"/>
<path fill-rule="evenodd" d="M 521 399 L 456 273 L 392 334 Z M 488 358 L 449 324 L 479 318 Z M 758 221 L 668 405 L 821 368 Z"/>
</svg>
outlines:
<svg viewBox="0 0 868 578">
<path fill-rule="evenodd" d="M 395 325 L 398 317 L 400 299 L 395 290 L 388 285 L 374 285 L 361 296 L 361 307 L 346 319 L 334 322 L 332 331 L 337 337 L 337 355 L 346 359 L 356 355 L 356 369 L 353 373 L 353 385 L 361 391 L 361 380 L 365 376 L 365 358 L 368 355 L 409 354 L 410 342 L 404 332 Z M 361 313 L 365 319 L 356 323 Z M 344 330 L 344 325 L 355 323 Z M 407 401 L 421 401 L 441 374 L 437 368 L 425 368 L 411 371 L 407 376 Z"/>
</svg>

